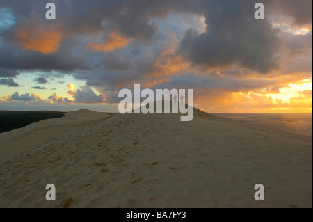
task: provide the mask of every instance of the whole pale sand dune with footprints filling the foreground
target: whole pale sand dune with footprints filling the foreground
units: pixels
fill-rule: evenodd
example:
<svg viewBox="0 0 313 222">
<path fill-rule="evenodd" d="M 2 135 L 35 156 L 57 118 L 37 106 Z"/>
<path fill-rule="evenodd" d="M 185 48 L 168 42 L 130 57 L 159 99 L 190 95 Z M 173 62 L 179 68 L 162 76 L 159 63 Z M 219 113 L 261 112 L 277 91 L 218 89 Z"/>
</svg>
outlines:
<svg viewBox="0 0 313 222">
<path fill-rule="evenodd" d="M 198 110 L 75 111 L 0 134 L 0 207 L 312 207 L 311 145 Z"/>
</svg>

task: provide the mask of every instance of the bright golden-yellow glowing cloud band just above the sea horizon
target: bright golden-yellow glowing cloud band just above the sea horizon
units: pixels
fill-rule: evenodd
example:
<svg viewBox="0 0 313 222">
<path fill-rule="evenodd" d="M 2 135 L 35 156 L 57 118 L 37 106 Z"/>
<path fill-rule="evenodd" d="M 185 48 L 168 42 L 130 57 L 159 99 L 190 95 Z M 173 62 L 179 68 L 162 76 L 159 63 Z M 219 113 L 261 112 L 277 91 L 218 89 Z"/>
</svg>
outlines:
<svg viewBox="0 0 313 222">
<path fill-rule="evenodd" d="M 277 94 L 201 90 L 194 103 L 214 113 L 312 113 L 312 80 L 288 86 Z"/>
</svg>

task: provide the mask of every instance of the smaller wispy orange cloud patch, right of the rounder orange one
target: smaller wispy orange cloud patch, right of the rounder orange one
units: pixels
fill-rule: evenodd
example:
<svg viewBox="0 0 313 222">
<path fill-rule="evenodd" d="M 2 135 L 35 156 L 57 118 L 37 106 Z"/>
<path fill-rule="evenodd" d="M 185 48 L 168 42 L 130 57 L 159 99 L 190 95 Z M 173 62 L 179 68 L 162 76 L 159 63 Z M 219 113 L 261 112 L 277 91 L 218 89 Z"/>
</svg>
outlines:
<svg viewBox="0 0 313 222">
<path fill-rule="evenodd" d="M 124 38 L 118 33 L 110 33 L 101 44 L 89 42 L 86 46 L 93 51 L 114 51 L 127 46 L 130 42 L 131 39 Z"/>
</svg>

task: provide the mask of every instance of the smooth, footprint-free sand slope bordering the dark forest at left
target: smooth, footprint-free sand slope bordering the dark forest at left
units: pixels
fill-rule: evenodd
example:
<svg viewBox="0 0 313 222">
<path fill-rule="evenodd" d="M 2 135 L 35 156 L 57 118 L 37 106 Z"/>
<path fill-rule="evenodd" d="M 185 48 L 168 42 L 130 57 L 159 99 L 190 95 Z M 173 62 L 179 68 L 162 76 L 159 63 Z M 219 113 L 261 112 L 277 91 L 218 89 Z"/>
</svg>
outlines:
<svg viewBox="0 0 313 222">
<path fill-rule="evenodd" d="M 0 157 L 8 157 L 35 146 L 49 143 L 60 136 L 75 134 L 93 120 L 107 118 L 108 114 L 86 109 L 65 113 L 62 118 L 47 119 L 20 129 L 0 134 Z"/>
</svg>

